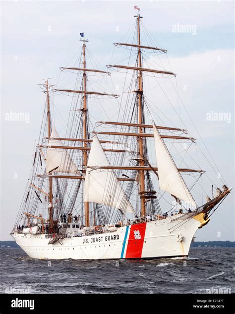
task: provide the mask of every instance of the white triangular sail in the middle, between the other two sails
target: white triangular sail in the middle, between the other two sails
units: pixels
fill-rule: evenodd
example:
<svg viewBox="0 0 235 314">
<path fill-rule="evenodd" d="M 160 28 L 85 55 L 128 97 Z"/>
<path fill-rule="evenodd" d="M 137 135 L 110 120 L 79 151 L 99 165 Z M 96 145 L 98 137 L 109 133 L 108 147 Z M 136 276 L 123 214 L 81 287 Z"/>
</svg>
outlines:
<svg viewBox="0 0 235 314">
<path fill-rule="evenodd" d="M 84 201 L 106 204 L 132 213 L 133 208 L 114 171 L 112 169 L 98 169 L 98 167 L 105 166 L 110 166 L 110 163 L 98 138 L 95 136 L 88 158 Z"/>
</svg>

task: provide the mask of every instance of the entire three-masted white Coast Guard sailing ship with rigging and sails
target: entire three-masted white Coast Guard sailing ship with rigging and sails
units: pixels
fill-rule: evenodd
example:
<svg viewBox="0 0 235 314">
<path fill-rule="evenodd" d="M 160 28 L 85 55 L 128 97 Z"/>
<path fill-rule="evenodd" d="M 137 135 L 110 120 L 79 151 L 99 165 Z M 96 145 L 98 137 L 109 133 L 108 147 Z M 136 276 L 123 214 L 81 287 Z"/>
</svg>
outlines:
<svg viewBox="0 0 235 314">
<path fill-rule="evenodd" d="M 80 33 L 77 63 L 60 68 L 60 75 L 70 75 L 72 81 L 63 77 L 61 86 L 48 79 L 42 84 L 39 141 L 11 232 L 32 258 L 188 256 L 197 229 L 207 225 L 231 191 L 223 180 L 220 187 L 211 185 L 204 170 L 190 166 L 190 161 L 199 165 L 196 139 L 182 121 L 177 127 L 168 116 L 162 118 L 162 98 L 154 88 L 160 90 L 163 81 L 174 88 L 176 74 L 161 63 L 167 51 L 145 43 L 152 39 L 135 9 L 132 42 L 114 44 L 128 53 L 122 64 L 109 64 L 107 70 L 87 66 L 88 40 Z M 120 97 L 104 91 L 111 70 L 123 83 Z M 154 83 L 146 84 L 146 77 Z M 154 103 L 149 93 L 154 93 Z M 59 97 L 67 122 L 57 112 Z M 108 106 L 102 112 L 105 99 Z M 95 122 L 94 113 L 99 116 Z M 178 109 L 175 113 L 180 116 Z"/>
</svg>

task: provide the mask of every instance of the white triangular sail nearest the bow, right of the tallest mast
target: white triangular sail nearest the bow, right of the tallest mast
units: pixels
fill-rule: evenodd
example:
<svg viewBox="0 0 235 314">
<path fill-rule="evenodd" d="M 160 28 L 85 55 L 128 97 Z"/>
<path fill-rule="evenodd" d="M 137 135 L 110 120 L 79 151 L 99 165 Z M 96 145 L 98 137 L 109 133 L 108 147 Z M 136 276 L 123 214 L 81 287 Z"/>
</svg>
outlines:
<svg viewBox="0 0 235 314">
<path fill-rule="evenodd" d="M 166 144 L 161 138 L 158 129 L 156 126 L 153 126 L 153 128 L 159 176 L 159 188 L 196 207 L 195 200 L 187 188 L 182 176 L 178 172 L 176 164 L 169 150 L 167 149 Z"/>
</svg>

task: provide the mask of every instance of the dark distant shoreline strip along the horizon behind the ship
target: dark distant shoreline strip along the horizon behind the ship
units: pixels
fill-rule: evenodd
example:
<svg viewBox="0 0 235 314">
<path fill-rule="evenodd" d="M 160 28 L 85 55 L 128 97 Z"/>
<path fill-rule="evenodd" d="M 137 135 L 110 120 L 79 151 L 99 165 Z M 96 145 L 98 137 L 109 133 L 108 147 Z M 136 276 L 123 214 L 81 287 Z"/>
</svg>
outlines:
<svg viewBox="0 0 235 314">
<path fill-rule="evenodd" d="M 235 248 L 235 241 L 207 241 L 192 242 L 191 248 Z M 15 241 L 0 241 L 0 249 L 19 249 L 20 247 Z"/>
</svg>

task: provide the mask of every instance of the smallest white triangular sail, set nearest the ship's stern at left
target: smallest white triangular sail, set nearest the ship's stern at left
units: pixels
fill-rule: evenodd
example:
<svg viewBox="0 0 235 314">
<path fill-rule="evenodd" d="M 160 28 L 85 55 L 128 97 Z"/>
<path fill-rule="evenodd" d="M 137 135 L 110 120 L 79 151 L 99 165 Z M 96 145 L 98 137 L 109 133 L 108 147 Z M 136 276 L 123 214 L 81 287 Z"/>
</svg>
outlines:
<svg viewBox="0 0 235 314">
<path fill-rule="evenodd" d="M 59 137 L 59 134 L 54 126 L 52 129 L 51 137 L 48 141 L 48 146 L 64 146 L 60 140 L 53 139 L 53 138 L 58 138 L 58 137 Z M 51 172 L 64 172 L 64 173 L 75 174 L 77 171 L 77 167 L 75 166 L 71 157 L 67 153 L 66 149 L 49 147 L 47 149 L 46 163 L 47 163 L 47 166 L 46 166 L 47 174 Z"/>
</svg>

